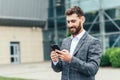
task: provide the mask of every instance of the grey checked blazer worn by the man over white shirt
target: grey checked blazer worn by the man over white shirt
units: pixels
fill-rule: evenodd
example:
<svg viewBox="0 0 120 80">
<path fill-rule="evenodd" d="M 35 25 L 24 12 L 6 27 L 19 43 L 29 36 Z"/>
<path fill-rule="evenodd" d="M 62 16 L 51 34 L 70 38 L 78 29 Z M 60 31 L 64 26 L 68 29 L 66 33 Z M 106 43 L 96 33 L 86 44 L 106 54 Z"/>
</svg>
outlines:
<svg viewBox="0 0 120 80">
<path fill-rule="evenodd" d="M 65 38 L 61 50 L 70 51 L 71 38 Z M 95 74 L 99 69 L 102 49 L 100 41 L 87 32 L 82 36 L 74 51 L 70 63 L 59 60 L 57 65 L 52 63 L 55 72 L 61 72 L 61 80 L 95 80 Z"/>
</svg>

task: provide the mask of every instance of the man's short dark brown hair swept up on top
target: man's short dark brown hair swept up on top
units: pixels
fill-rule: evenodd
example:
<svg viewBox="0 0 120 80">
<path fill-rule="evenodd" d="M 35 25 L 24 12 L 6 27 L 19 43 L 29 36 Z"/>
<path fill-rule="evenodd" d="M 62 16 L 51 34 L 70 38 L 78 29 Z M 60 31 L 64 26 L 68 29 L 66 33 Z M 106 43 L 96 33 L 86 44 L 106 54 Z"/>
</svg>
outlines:
<svg viewBox="0 0 120 80">
<path fill-rule="evenodd" d="M 67 9 L 66 12 L 65 12 L 65 15 L 69 16 L 69 15 L 72 15 L 74 13 L 76 13 L 79 17 L 84 16 L 83 10 L 78 6 L 74 6 L 72 8 Z"/>
</svg>

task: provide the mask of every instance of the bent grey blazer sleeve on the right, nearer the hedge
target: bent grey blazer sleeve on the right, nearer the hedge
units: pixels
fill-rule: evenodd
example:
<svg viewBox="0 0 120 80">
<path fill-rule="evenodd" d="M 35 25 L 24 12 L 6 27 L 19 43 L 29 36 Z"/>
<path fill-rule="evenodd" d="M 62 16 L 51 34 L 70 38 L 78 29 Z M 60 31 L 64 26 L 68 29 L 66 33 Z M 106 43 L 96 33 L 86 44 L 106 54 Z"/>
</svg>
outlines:
<svg viewBox="0 0 120 80">
<path fill-rule="evenodd" d="M 92 41 L 88 46 L 87 61 L 73 56 L 70 66 L 86 76 L 94 76 L 99 68 L 102 49 L 99 40 Z"/>
</svg>

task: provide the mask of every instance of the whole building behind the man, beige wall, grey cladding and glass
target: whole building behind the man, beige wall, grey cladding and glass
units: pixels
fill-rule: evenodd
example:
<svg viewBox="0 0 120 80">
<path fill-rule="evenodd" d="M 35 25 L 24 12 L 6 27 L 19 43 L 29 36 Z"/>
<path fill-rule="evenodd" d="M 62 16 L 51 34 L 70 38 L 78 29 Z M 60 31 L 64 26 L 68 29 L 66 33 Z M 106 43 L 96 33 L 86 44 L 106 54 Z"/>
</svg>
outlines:
<svg viewBox="0 0 120 80">
<path fill-rule="evenodd" d="M 50 60 L 50 44 L 66 37 L 65 10 L 80 6 L 84 28 L 105 52 L 120 47 L 119 0 L 0 0 L 0 64 Z"/>
</svg>

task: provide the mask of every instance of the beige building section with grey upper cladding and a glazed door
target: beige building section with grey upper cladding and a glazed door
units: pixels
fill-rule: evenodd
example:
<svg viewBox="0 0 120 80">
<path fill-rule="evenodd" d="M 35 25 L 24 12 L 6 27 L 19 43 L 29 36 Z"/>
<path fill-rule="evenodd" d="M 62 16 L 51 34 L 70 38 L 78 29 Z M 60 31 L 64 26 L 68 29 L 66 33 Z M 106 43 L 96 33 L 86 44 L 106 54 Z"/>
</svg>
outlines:
<svg viewBox="0 0 120 80">
<path fill-rule="evenodd" d="M 44 61 L 47 9 L 48 0 L 0 0 L 0 64 Z"/>
</svg>

